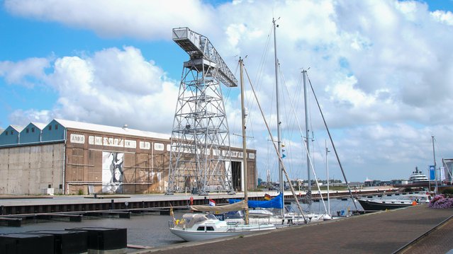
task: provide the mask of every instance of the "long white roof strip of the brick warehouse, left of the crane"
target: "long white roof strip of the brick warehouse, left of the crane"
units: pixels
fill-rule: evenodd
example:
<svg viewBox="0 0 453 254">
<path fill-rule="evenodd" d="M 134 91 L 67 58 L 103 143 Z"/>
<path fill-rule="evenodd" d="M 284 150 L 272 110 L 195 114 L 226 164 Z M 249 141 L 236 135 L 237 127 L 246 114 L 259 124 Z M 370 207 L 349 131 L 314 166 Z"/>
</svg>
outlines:
<svg viewBox="0 0 453 254">
<path fill-rule="evenodd" d="M 85 129 L 85 130 L 92 130 L 96 132 L 109 132 L 113 134 L 121 134 L 121 135 L 131 135 L 137 137 L 150 137 L 150 138 L 158 138 L 158 139 L 170 139 L 169 134 L 162 134 L 156 132 L 145 132 L 139 129 L 130 129 L 130 128 L 122 128 L 122 127 L 113 127 L 107 125 L 95 125 L 87 122 L 76 122 L 70 120 L 62 120 L 62 119 L 54 119 L 60 125 L 66 128 L 72 129 Z"/>
</svg>

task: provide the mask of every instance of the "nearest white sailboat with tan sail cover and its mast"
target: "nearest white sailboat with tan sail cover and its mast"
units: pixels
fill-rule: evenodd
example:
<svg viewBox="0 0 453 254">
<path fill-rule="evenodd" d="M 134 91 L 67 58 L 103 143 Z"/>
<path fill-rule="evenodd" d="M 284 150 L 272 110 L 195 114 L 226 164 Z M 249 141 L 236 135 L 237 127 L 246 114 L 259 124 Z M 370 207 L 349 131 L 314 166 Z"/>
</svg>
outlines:
<svg viewBox="0 0 453 254">
<path fill-rule="evenodd" d="M 240 84 L 241 84 L 241 105 L 242 105 L 242 152 L 243 167 L 247 169 L 247 146 L 245 142 L 245 108 L 244 108 L 244 83 L 242 75 L 242 59 L 240 63 Z M 257 231 L 269 231 L 276 229 L 276 226 L 266 221 L 259 221 L 256 224 L 249 223 L 249 210 L 248 210 L 248 179 L 247 173 L 244 174 L 244 200 L 235 202 L 233 204 L 226 204 L 222 206 L 206 206 L 197 205 L 191 206 L 191 210 L 198 212 L 210 212 L 211 214 L 184 214 L 181 220 L 173 218 L 169 221 L 169 230 L 176 236 L 184 239 L 185 241 L 204 241 L 213 238 L 220 238 L 226 236 L 241 236 L 247 233 L 254 233 Z M 212 213 L 225 213 L 231 211 L 245 210 L 245 224 L 235 221 L 221 221 Z"/>
</svg>

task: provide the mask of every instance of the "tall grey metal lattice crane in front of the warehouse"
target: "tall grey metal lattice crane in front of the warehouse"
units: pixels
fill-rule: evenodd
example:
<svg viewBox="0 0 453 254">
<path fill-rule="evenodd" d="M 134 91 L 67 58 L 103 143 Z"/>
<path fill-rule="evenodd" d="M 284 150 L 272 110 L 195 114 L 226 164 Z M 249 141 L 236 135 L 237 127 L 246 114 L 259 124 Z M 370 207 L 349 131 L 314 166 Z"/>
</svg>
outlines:
<svg viewBox="0 0 453 254">
<path fill-rule="evenodd" d="M 237 80 L 207 37 L 174 28 L 173 40 L 189 54 L 174 114 L 167 194 L 233 192 L 230 136 L 220 83 Z"/>
</svg>

